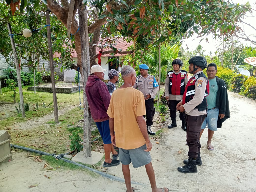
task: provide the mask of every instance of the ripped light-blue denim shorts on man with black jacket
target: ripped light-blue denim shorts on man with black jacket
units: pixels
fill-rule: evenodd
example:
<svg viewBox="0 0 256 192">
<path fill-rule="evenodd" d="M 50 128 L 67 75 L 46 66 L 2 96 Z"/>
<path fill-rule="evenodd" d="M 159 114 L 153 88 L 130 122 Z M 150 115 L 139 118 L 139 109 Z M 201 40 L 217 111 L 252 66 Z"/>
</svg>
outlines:
<svg viewBox="0 0 256 192">
<path fill-rule="evenodd" d="M 208 125 L 208 129 L 211 131 L 217 131 L 217 121 L 219 116 L 219 109 L 208 109 L 207 110 L 207 117 L 205 118 L 201 129 L 206 128 L 206 124 Z"/>
</svg>

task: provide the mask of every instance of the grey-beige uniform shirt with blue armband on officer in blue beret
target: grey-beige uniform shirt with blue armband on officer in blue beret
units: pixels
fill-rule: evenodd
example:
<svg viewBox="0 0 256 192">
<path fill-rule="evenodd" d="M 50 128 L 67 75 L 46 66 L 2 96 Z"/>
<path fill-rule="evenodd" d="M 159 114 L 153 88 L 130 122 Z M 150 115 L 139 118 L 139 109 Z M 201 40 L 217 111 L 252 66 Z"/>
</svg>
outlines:
<svg viewBox="0 0 256 192">
<path fill-rule="evenodd" d="M 150 94 L 149 99 L 152 99 L 158 91 L 158 86 L 159 85 L 153 75 L 148 75 L 146 78 L 139 75 L 136 78 L 133 88 L 138 88 L 138 90 L 143 93 L 144 97 L 147 97 L 147 95 Z"/>
</svg>

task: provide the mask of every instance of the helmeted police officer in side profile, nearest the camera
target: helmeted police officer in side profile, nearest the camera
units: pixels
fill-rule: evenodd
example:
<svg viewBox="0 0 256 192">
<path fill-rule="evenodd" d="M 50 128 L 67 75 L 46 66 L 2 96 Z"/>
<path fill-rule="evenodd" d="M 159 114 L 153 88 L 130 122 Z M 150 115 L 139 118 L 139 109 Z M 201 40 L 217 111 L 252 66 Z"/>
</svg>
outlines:
<svg viewBox="0 0 256 192">
<path fill-rule="evenodd" d="M 203 69 L 207 67 L 207 61 L 202 56 L 189 59 L 188 72 L 193 76 L 188 80 L 182 101 L 177 104 L 177 110 L 186 113 L 187 145 L 189 147 L 188 159 L 185 159 L 178 171 L 182 173 L 197 173 L 196 165 L 202 165 L 200 157 L 201 144 L 199 141 L 201 125 L 206 118 L 207 102 L 209 94 L 209 81 Z"/>
</svg>

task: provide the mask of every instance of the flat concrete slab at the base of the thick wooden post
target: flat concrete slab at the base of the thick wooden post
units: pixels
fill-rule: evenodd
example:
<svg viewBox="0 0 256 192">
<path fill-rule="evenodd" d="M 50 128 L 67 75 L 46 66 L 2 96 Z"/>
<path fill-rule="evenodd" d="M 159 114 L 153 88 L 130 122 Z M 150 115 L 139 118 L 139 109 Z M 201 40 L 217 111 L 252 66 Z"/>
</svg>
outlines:
<svg viewBox="0 0 256 192">
<path fill-rule="evenodd" d="M 90 164 L 91 165 L 91 164 L 96 164 L 99 161 L 101 161 L 103 156 L 104 156 L 103 153 L 92 151 L 92 156 L 91 157 L 84 157 L 83 156 L 83 151 L 80 151 L 78 154 L 76 154 L 72 158 L 72 161 L 81 162 L 81 163 L 85 163 L 85 164 Z"/>
</svg>

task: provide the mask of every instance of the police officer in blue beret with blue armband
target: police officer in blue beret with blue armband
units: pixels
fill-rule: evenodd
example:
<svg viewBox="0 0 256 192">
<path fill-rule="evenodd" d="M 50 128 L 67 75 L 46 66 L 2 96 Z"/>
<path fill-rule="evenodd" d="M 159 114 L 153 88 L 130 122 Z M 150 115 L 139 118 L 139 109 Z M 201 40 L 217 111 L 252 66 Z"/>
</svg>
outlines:
<svg viewBox="0 0 256 192">
<path fill-rule="evenodd" d="M 146 64 L 139 65 L 139 68 L 141 75 L 136 78 L 133 88 L 138 89 L 144 95 L 146 105 L 147 133 L 150 135 L 155 135 L 156 133 L 151 130 L 151 126 L 153 125 L 153 117 L 155 115 L 154 96 L 158 91 L 159 85 L 156 78 L 153 75 L 148 74 L 148 66 Z"/>
</svg>

